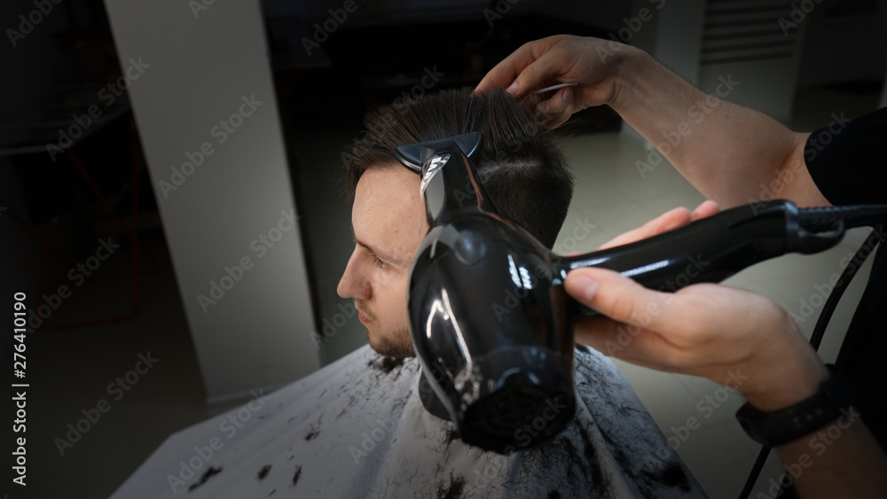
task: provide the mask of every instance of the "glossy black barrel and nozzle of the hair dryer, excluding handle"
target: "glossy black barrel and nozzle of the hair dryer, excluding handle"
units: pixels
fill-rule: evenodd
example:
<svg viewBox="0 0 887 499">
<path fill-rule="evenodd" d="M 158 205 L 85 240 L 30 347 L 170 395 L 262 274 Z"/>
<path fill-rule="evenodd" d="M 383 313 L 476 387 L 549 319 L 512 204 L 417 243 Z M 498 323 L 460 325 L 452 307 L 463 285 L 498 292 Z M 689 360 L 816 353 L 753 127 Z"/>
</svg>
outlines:
<svg viewBox="0 0 887 499">
<path fill-rule="evenodd" d="M 572 331 L 549 253 L 498 215 L 454 143 L 420 175 L 431 229 L 413 257 L 408 308 L 423 370 L 463 441 L 502 453 L 545 441 L 575 408 Z M 568 409 L 546 419 L 555 404 Z M 543 430 L 518 432 L 537 417 Z"/>
</svg>

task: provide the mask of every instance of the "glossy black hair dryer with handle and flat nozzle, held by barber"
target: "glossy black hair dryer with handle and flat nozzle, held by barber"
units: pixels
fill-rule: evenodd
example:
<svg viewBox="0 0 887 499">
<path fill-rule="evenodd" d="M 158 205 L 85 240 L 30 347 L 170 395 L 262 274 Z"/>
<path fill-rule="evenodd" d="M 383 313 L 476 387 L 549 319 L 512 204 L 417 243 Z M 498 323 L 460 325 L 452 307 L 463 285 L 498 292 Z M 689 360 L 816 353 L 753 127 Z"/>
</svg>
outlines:
<svg viewBox="0 0 887 499">
<path fill-rule="evenodd" d="M 769 201 L 631 245 L 559 257 L 498 213 L 471 160 L 480 140 L 469 133 L 404 145 L 395 155 L 420 174 L 430 227 L 413 256 L 407 308 L 423 378 L 443 411 L 423 403 L 458 425 L 463 441 L 498 453 L 548 441 L 573 417 L 572 326 L 594 312 L 564 292 L 570 269 L 614 269 L 675 291 L 784 253 L 823 251 L 843 238 L 848 218 L 857 225 L 871 218 Z"/>
</svg>

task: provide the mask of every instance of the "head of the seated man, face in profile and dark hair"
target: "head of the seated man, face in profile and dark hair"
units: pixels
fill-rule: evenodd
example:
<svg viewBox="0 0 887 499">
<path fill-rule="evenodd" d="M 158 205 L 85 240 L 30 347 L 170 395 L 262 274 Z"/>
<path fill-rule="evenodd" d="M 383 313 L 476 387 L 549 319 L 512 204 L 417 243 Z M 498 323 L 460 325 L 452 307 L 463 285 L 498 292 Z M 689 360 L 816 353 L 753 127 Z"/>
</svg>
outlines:
<svg viewBox="0 0 887 499">
<path fill-rule="evenodd" d="M 343 154 L 345 191 L 355 199 L 355 249 L 339 283 L 353 298 L 367 338 L 382 355 L 412 356 L 406 281 L 412 253 L 428 232 L 419 175 L 393 157 L 399 145 L 484 128 L 475 164 L 502 214 L 552 247 L 567 216 L 573 178 L 558 139 L 514 99 L 469 90 L 444 91 L 370 113 L 365 135 Z M 390 201 L 389 205 L 384 205 Z M 403 206 L 409 210 L 404 214 Z"/>
</svg>

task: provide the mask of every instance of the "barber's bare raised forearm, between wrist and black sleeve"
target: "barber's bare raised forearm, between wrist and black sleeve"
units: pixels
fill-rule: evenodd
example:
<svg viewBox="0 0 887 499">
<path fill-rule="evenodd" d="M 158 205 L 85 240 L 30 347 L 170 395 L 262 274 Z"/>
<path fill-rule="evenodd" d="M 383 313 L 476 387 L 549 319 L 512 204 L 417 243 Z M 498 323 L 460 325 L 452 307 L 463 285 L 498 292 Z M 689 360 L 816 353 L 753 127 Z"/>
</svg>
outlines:
<svg viewBox="0 0 887 499">
<path fill-rule="evenodd" d="M 804 135 L 703 93 L 644 51 L 625 47 L 622 55 L 610 105 L 707 198 L 722 207 L 773 197 L 802 206 L 827 204 L 811 190 Z M 741 84 L 741 79 L 722 84 L 721 95 Z"/>
</svg>

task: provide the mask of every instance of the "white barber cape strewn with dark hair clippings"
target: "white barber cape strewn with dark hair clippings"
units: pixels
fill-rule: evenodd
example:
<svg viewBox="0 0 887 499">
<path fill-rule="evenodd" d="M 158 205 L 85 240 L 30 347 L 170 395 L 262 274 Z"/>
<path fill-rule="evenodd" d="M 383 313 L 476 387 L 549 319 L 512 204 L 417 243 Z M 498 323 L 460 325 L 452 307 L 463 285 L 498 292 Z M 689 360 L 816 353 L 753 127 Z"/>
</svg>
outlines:
<svg viewBox="0 0 887 499">
<path fill-rule="evenodd" d="M 174 433 L 112 498 L 705 496 L 616 366 L 586 347 L 575 365 L 572 422 L 502 456 L 425 409 L 417 359 L 362 347 Z"/>
</svg>

